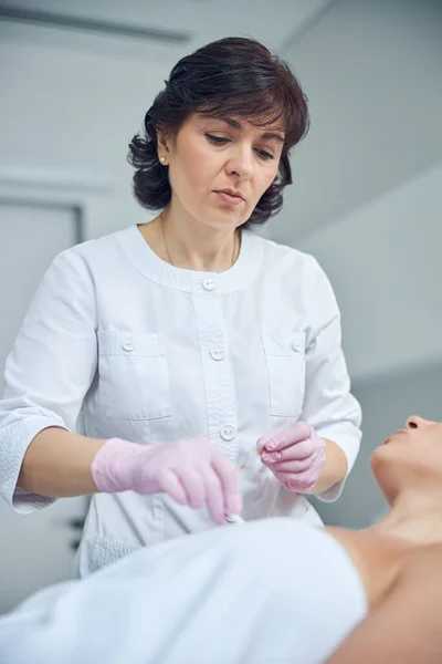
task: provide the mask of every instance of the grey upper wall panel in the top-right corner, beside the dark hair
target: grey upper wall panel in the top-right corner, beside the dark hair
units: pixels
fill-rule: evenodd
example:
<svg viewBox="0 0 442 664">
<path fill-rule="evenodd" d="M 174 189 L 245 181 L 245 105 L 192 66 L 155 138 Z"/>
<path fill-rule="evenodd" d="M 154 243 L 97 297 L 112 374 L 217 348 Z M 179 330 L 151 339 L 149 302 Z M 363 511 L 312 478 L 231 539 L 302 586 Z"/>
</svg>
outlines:
<svg viewBox="0 0 442 664">
<path fill-rule="evenodd" d="M 442 157 L 442 2 L 337 0 L 285 55 L 309 98 L 294 185 L 275 224 L 293 241 Z"/>
</svg>

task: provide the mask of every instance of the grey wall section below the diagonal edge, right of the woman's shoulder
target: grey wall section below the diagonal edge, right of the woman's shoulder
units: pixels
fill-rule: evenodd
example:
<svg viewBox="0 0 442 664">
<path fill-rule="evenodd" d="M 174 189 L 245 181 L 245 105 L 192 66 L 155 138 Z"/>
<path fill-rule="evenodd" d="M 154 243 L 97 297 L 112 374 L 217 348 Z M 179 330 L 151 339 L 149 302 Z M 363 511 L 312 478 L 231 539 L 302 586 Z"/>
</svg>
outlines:
<svg viewBox="0 0 442 664">
<path fill-rule="evenodd" d="M 296 242 L 326 270 L 351 376 L 442 360 L 441 165 Z"/>
</svg>

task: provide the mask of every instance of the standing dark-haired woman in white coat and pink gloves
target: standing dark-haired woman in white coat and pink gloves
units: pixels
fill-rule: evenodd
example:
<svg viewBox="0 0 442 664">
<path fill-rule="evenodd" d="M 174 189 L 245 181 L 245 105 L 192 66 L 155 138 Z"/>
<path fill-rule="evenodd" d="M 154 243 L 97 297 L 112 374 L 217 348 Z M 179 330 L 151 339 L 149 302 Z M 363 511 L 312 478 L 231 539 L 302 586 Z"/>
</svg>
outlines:
<svg viewBox="0 0 442 664">
<path fill-rule="evenodd" d="M 199 49 L 130 143 L 135 196 L 159 215 L 45 274 L 7 363 L 0 491 L 22 512 L 94 494 L 81 574 L 229 513 L 318 522 L 304 494 L 340 494 L 360 409 L 332 287 L 251 231 L 281 209 L 307 126 L 265 46 Z"/>
</svg>

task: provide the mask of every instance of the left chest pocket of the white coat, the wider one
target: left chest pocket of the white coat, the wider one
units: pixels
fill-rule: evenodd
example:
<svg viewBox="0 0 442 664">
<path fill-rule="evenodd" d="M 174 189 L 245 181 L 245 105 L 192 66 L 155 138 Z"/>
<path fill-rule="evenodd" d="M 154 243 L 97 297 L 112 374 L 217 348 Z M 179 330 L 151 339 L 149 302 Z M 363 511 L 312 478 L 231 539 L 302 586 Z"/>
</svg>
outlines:
<svg viewBox="0 0 442 664">
<path fill-rule="evenodd" d="M 169 366 L 160 334 L 98 331 L 98 392 L 107 417 L 171 415 Z"/>
</svg>

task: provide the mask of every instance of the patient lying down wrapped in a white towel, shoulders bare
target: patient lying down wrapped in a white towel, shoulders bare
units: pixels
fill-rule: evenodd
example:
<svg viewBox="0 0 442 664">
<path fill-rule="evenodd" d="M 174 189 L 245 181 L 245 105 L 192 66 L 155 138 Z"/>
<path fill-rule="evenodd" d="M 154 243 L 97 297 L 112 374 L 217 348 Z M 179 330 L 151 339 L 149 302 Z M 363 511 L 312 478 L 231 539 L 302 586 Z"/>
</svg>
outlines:
<svg viewBox="0 0 442 664">
<path fill-rule="evenodd" d="M 409 418 L 371 467 L 376 526 L 272 519 L 140 550 L 0 619 L 1 664 L 442 661 L 442 424 Z"/>
</svg>

